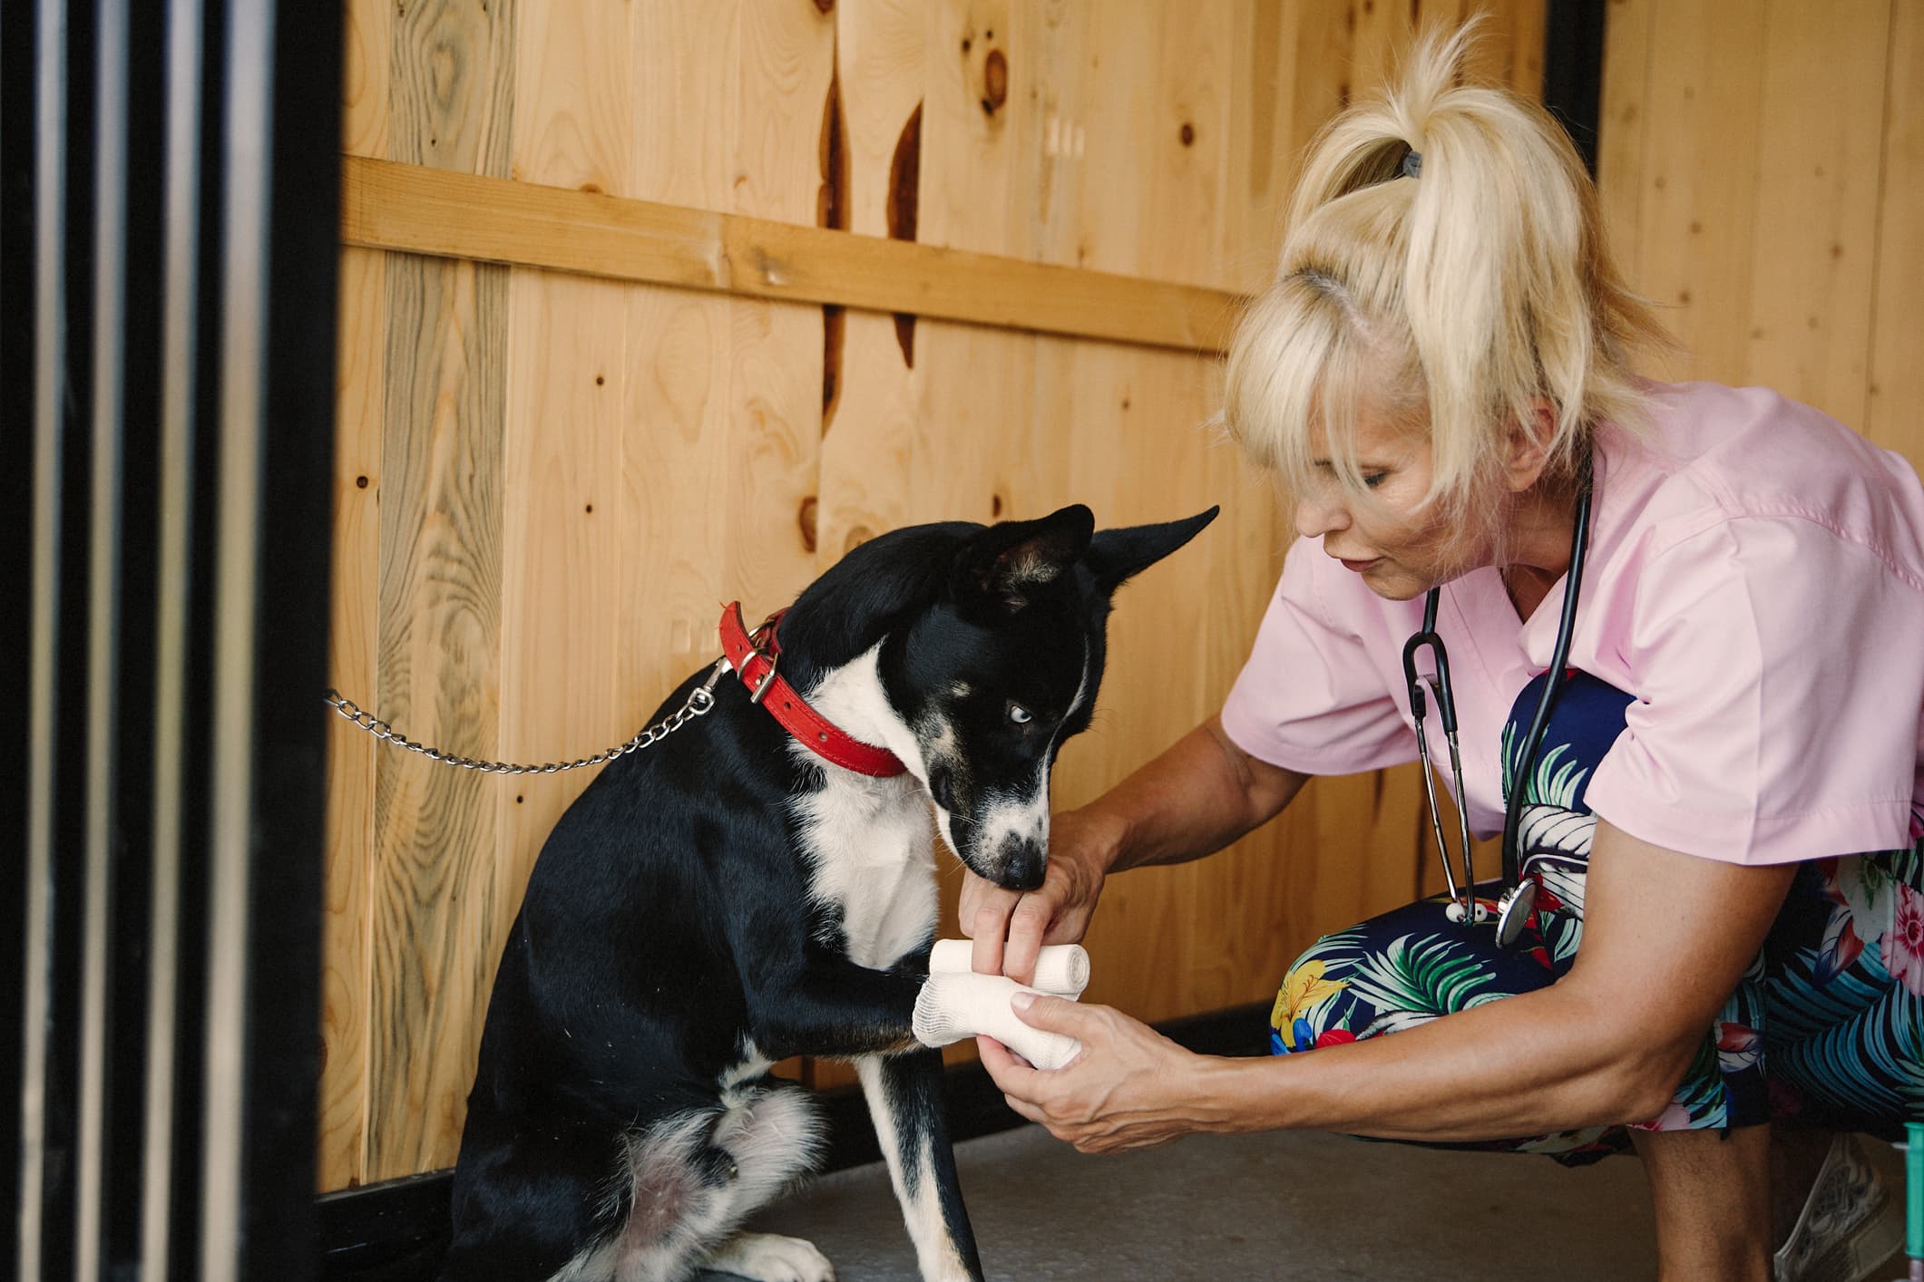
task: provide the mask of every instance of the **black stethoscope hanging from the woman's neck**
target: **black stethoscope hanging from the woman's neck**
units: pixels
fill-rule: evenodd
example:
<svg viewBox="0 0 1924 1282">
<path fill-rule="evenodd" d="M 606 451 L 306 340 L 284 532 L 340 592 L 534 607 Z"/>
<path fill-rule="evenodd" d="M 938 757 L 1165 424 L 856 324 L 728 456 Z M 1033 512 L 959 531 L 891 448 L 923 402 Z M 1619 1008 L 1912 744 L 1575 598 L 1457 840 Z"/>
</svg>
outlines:
<svg viewBox="0 0 1924 1282">
<path fill-rule="evenodd" d="M 1562 688 L 1558 673 L 1570 657 L 1570 632 L 1576 625 L 1576 598 L 1583 586 L 1583 554 L 1589 550 L 1589 475 L 1580 479 L 1576 500 L 1576 529 L 1570 532 L 1570 569 L 1564 577 L 1562 617 L 1557 623 L 1557 646 L 1551 653 L 1551 677 L 1543 682 L 1537 698 L 1537 711 L 1530 719 L 1530 734 L 1524 738 L 1524 757 L 1520 769 L 1510 777 L 1510 796 L 1503 809 L 1503 894 L 1497 898 L 1497 944 L 1508 948 L 1522 934 L 1530 911 L 1537 903 L 1537 884 L 1524 880 L 1522 851 L 1518 850 L 1518 828 L 1524 817 L 1524 786 L 1537 769 L 1537 752 L 1543 748 L 1543 732 L 1549 728 L 1551 707 Z M 1437 855 L 1443 859 L 1443 880 L 1449 882 L 1451 903 L 1445 909 L 1451 921 L 1485 923 L 1491 913 L 1476 901 L 1476 867 L 1470 859 L 1470 819 L 1462 794 L 1462 753 L 1456 748 L 1456 698 L 1449 684 L 1449 652 L 1437 636 L 1437 604 L 1441 588 L 1430 588 L 1424 598 L 1424 627 L 1410 640 L 1403 642 L 1403 677 L 1410 682 L 1410 713 L 1416 719 L 1416 752 L 1424 763 L 1424 794 L 1430 798 L 1430 826 L 1437 838 Z M 1430 648 L 1435 659 L 1435 677 L 1416 675 L 1416 652 Z M 1443 738 L 1449 742 L 1449 769 L 1453 796 L 1456 800 L 1456 840 L 1462 850 L 1462 888 L 1458 892 L 1456 875 L 1449 867 L 1449 844 L 1443 840 L 1443 815 L 1437 811 L 1435 771 L 1430 769 L 1430 740 L 1424 734 L 1424 715 L 1430 698 L 1424 684 L 1435 694 L 1437 715 L 1443 719 Z M 1460 896 L 1460 898 L 1458 898 Z"/>
</svg>

